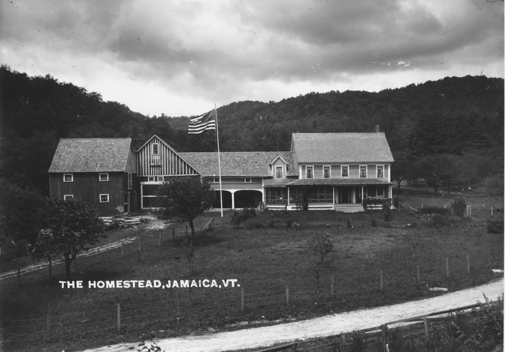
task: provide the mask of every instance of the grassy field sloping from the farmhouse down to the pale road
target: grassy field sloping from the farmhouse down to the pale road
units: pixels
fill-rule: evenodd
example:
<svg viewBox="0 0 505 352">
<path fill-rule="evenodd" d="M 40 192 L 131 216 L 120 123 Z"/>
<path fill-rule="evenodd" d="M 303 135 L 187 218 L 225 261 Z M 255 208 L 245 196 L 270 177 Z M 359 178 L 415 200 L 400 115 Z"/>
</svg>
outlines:
<svg viewBox="0 0 505 352">
<path fill-rule="evenodd" d="M 453 196 L 406 189 L 400 198 L 418 209 L 450 208 Z M 82 280 L 83 288 L 61 287 L 63 265 L 53 265 L 51 277 L 41 269 L 21 275 L 20 285 L 17 277 L 1 282 L 3 347 L 69 351 L 238 329 L 440 294 L 428 287 L 453 291 L 484 283 L 496 277 L 491 269 L 503 269 L 503 233 L 486 230 L 491 206 L 493 218 L 503 220 L 503 199 L 478 191 L 465 196 L 472 216 L 450 216 L 440 227 L 407 207 L 393 211 L 389 226 L 381 211 L 266 211 L 239 226 L 228 222 L 228 213 L 223 226 L 219 213 L 207 213 L 196 227 L 211 217 L 215 227 L 197 234 L 191 268 L 181 246 L 185 224 L 165 225 L 161 245 L 154 220 L 109 231 L 103 243 L 138 237 L 142 252 L 135 239 L 124 246 L 124 256 L 117 248 L 78 259 L 71 279 Z M 308 248 L 316 234 L 333 243 L 323 264 Z M 181 279 L 215 279 L 222 287 L 88 288 L 88 281 L 98 280 Z M 235 287 L 223 287 L 223 279 L 236 279 Z"/>
</svg>

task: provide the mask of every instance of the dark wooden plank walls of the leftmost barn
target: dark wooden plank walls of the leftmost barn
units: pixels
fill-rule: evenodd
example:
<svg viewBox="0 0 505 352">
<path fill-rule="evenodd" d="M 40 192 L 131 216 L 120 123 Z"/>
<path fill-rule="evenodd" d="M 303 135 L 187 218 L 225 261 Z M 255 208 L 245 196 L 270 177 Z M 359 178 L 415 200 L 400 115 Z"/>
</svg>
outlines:
<svg viewBox="0 0 505 352">
<path fill-rule="evenodd" d="M 49 195 L 58 199 L 63 199 L 64 195 L 73 195 L 79 202 L 95 206 L 100 216 L 123 213 L 123 192 L 128 187 L 127 173 L 109 172 L 109 181 L 99 181 L 98 172 L 74 172 L 73 176 L 73 182 L 63 182 L 63 173 L 50 173 Z M 100 203 L 100 194 L 108 194 L 109 202 Z"/>
</svg>

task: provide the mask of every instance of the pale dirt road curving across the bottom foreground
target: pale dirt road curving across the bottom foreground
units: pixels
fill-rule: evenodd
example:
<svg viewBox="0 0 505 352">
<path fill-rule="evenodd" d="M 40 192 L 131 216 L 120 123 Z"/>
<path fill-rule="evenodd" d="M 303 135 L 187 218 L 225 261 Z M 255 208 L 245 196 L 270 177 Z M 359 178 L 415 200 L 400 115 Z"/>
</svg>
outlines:
<svg viewBox="0 0 505 352">
<path fill-rule="evenodd" d="M 166 352 L 226 351 L 230 349 L 247 349 L 261 346 L 268 347 L 276 343 L 288 343 L 294 340 L 336 335 L 379 326 L 383 323 L 398 319 L 410 318 L 445 309 L 454 309 L 477 302 L 485 302 L 482 294 L 485 294 L 489 299 L 496 300 L 503 294 L 503 278 L 499 278 L 485 285 L 449 292 L 443 296 L 421 301 L 333 314 L 320 318 L 273 326 L 208 335 L 181 336 L 163 340 L 146 341 L 146 343 L 157 342 L 162 350 Z M 137 345 L 138 342 L 129 344 L 123 343 L 88 349 L 84 352 L 131 351 L 136 350 L 132 347 Z"/>
</svg>

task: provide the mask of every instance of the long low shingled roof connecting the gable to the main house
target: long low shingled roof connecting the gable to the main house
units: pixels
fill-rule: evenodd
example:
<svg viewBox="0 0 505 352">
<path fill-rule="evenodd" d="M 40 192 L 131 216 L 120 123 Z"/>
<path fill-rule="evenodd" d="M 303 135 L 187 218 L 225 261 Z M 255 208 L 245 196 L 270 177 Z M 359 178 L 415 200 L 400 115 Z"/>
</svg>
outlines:
<svg viewBox="0 0 505 352">
<path fill-rule="evenodd" d="M 178 153 L 204 177 L 219 175 L 218 153 Z M 221 176 L 223 177 L 269 177 L 270 163 L 281 156 L 287 163 L 287 175 L 298 174 L 292 152 L 222 152 Z"/>
</svg>

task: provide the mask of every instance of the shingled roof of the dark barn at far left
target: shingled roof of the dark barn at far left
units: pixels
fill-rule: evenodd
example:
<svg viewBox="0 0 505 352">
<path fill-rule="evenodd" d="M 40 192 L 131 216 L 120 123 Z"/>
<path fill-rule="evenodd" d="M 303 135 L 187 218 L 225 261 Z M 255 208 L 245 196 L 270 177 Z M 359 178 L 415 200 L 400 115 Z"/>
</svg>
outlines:
<svg viewBox="0 0 505 352">
<path fill-rule="evenodd" d="M 131 138 L 62 138 L 49 172 L 124 171 Z"/>
</svg>

